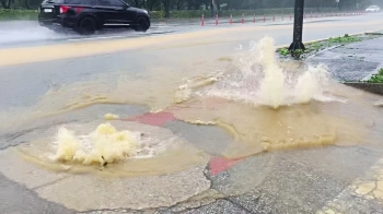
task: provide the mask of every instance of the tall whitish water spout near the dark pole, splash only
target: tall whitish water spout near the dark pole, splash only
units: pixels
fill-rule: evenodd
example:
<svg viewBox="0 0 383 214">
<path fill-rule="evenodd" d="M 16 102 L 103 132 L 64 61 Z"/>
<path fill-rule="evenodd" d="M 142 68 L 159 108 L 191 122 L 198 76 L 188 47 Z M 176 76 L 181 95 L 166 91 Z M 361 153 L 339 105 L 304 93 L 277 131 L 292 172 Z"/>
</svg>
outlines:
<svg viewBox="0 0 383 214">
<path fill-rule="evenodd" d="M 288 72 L 278 62 L 275 40 L 265 37 L 251 43 L 251 55 L 240 59 L 239 72 L 222 78 L 219 84 L 199 95 L 224 97 L 272 108 L 310 100 L 336 100 L 325 95 L 329 76 L 324 66 Z"/>
</svg>

